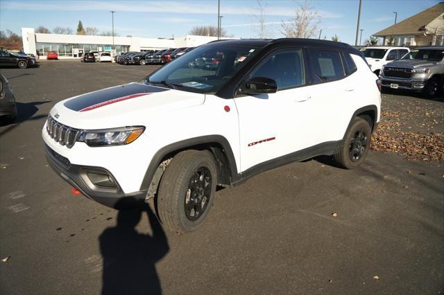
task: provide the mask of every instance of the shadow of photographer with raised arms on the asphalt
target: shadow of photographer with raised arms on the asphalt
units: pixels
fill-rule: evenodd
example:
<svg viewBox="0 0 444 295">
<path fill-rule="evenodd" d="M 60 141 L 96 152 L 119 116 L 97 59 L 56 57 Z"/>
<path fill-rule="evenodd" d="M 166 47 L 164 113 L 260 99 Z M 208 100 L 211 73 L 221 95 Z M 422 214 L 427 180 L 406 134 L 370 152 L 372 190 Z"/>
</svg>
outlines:
<svg viewBox="0 0 444 295">
<path fill-rule="evenodd" d="M 135 229 L 146 212 L 153 234 Z M 167 255 L 167 236 L 148 206 L 119 211 L 117 226 L 99 237 L 103 257 L 102 294 L 161 294 L 155 263 Z"/>
</svg>

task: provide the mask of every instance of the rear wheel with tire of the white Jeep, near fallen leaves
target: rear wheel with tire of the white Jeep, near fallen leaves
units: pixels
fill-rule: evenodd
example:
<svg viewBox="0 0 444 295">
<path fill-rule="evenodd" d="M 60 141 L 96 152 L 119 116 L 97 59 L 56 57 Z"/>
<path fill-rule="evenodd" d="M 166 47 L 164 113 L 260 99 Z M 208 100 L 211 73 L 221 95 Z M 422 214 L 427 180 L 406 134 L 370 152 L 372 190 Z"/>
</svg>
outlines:
<svg viewBox="0 0 444 295">
<path fill-rule="evenodd" d="M 367 157 L 370 139 L 371 128 L 368 121 L 360 117 L 355 118 L 345 134 L 343 147 L 333 156 L 334 161 L 345 169 L 361 165 Z"/>
</svg>

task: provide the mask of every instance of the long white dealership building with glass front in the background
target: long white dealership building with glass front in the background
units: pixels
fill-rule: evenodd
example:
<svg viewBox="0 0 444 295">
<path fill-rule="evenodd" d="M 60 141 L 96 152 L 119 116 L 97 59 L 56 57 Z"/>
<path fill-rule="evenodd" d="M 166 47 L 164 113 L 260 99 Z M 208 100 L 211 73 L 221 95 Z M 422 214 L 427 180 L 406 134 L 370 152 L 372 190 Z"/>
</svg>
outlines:
<svg viewBox="0 0 444 295">
<path fill-rule="evenodd" d="M 35 33 L 34 28 L 22 28 L 23 51 L 40 57 L 56 51 L 60 58 L 76 58 L 89 51 L 121 53 L 164 48 L 195 47 L 217 37 L 186 35 L 171 39 L 142 37 L 112 37 L 94 35 L 61 35 Z"/>
</svg>

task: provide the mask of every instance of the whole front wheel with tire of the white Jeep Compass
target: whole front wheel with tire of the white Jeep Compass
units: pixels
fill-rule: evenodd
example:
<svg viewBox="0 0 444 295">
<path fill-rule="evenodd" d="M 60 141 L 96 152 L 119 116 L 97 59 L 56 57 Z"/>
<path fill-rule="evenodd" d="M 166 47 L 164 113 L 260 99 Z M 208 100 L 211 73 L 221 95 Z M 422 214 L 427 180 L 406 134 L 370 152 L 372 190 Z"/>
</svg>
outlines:
<svg viewBox="0 0 444 295">
<path fill-rule="evenodd" d="M 157 195 L 160 222 L 178 233 L 203 222 L 216 193 L 216 164 L 208 151 L 187 150 L 171 160 Z"/>
</svg>

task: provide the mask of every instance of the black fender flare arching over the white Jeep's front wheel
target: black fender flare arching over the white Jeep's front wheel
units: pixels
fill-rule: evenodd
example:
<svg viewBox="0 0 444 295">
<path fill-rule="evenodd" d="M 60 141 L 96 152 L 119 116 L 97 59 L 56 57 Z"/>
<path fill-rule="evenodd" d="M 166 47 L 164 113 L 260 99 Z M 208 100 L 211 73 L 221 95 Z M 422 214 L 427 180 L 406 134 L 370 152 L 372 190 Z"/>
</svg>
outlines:
<svg viewBox="0 0 444 295">
<path fill-rule="evenodd" d="M 228 169 L 230 170 L 231 179 L 234 179 L 235 177 L 237 177 L 237 166 L 231 145 L 228 142 L 227 138 L 225 138 L 224 136 L 213 134 L 213 135 L 188 138 L 185 139 L 184 141 L 171 143 L 169 145 L 162 147 L 160 150 L 157 150 L 157 152 L 154 154 L 153 158 L 151 159 L 148 168 L 146 169 L 140 189 L 148 190 L 149 186 L 151 185 L 151 180 L 154 177 L 155 171 L 157 170 L 157 167 L 160 165 L 160 163 L 162 163 L 162 160 L 165 157 L 167 157 L 169 154 L 173 152 L 180 152 L 182 150 L 187 150 L 193 147 L 196 148 L 199 146 L 203 147 L 209 146 L 214 143 L 222 147 L 223 153 L 225 154 L 225 157 L 227 158 L 228 161 Z"/>
</svg>

